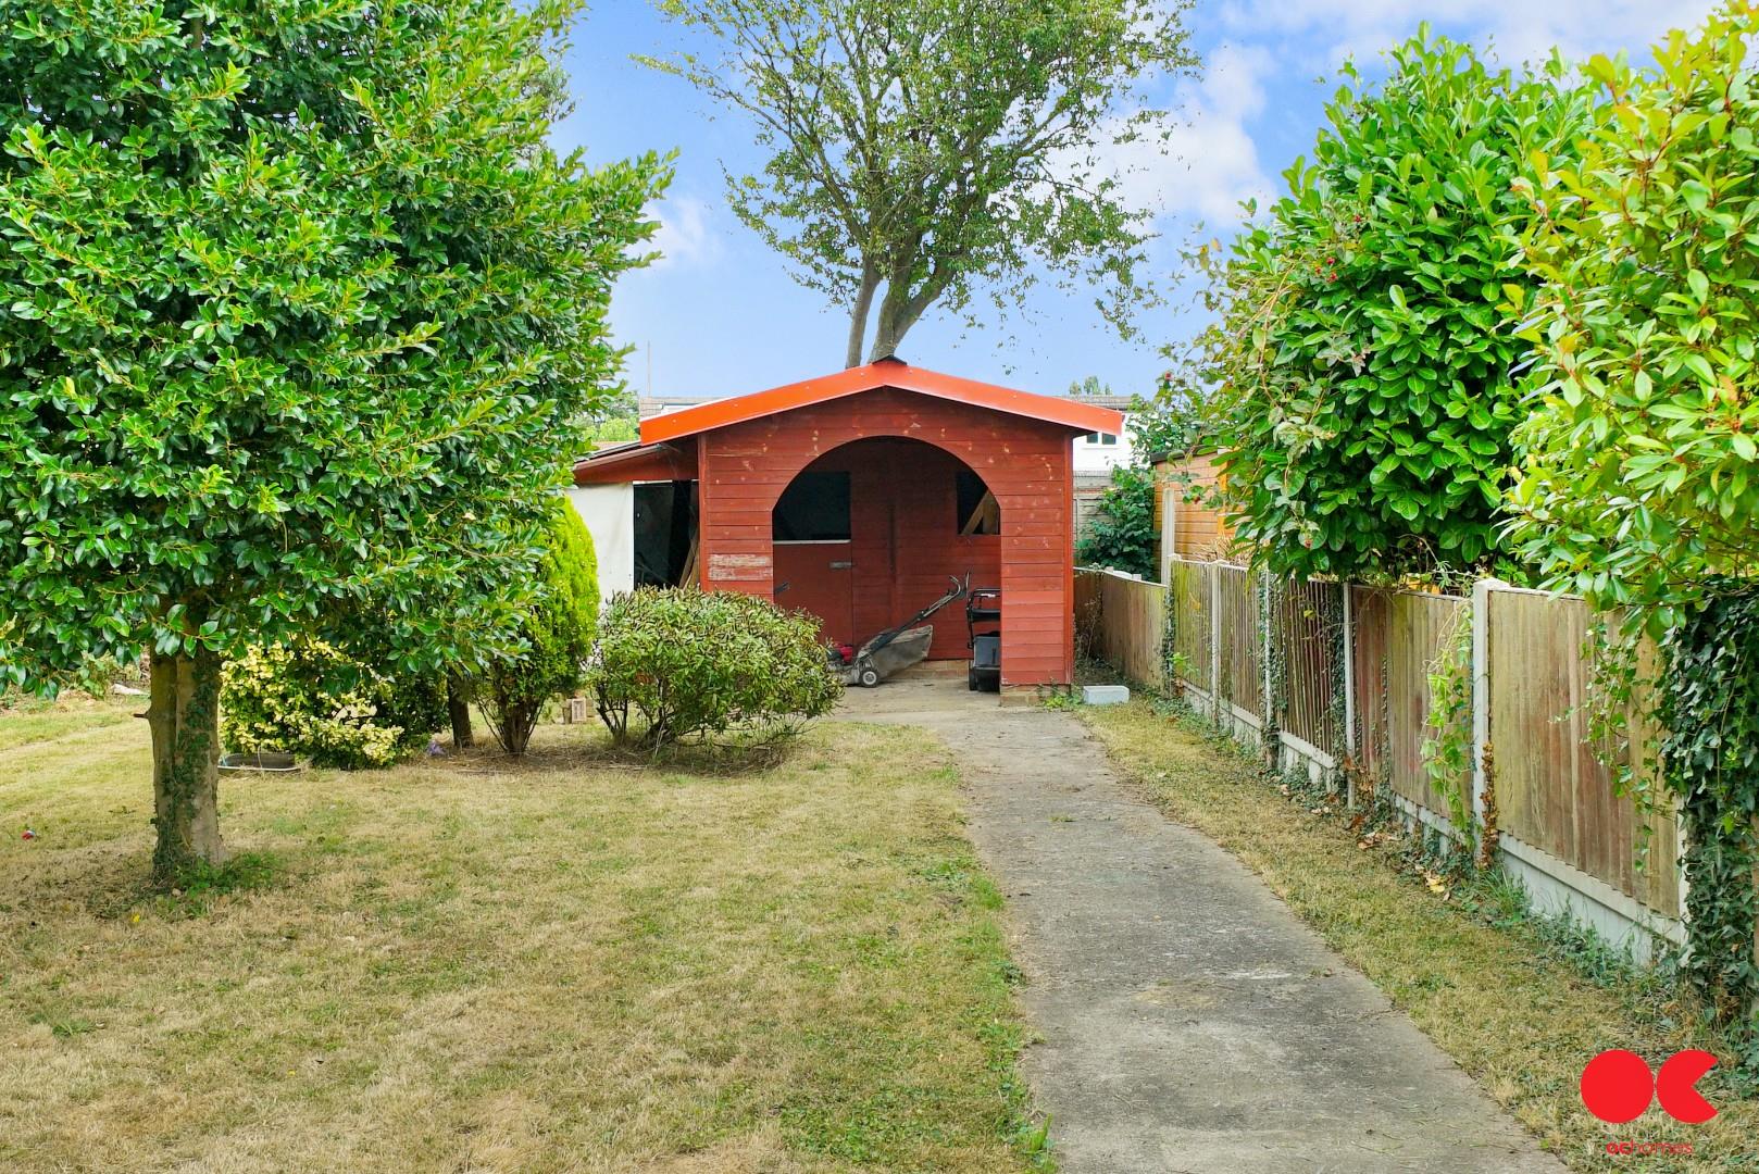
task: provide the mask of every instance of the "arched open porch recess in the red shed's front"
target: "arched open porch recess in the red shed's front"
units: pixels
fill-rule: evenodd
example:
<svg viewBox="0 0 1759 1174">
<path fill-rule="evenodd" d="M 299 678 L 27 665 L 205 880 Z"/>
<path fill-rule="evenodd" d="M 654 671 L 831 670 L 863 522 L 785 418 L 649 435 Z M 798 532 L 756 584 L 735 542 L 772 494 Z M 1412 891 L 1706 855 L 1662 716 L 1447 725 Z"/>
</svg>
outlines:
<svg viewBox="0 0 1759 1174">
<path fill-rule="evenodd" d="M 860 644 L 946 591 L 1001 581 L 1001 509 L 957 456 L 922 440 L 853 440 L 800 470 L 770 512 L 776 602 Z M 931 660 L 964 660 L 964 613 L 934 620 Z"/>
</svg>

